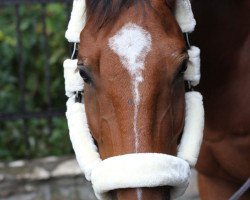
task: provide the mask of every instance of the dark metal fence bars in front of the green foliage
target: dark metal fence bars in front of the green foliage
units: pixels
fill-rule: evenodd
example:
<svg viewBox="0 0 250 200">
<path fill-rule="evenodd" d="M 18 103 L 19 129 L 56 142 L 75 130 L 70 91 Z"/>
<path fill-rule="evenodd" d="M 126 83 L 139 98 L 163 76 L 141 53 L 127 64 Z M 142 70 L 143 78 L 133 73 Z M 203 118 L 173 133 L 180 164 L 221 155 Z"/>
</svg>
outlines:
<svg viewBox="0 0 250 200">
<path fill-rule="evenodd" d="M 54 117 L 64 116 L 65 108 L 55 108 L 53 106 L 52 98 L 51 98 L 51 75 L 50 75 L 50 65 L 49 65 L 49 38 L 47 36 L 46 30 L 46 6 L 50 3 L 62 3 L 66 4 L 68 15 L 70 14 L 72 0 L 1 0 L 0 7 L 8 7 L 14 6 L 13 17 L 15 18 L 15 27 L 16 27 L 16 59 L 18 60 L 18 90 L 19 92 L 19 110 L 16 112 L 6 113 L 0 111 L 0 121 L 12 121 L 12 120 L 21 120 L 22 121 L 22 130 L 21 133 L 23 135 L 24 143 L 28 149 L 30 148 L 29 140 L 28 140 L 28 123 L 27 121 L 30 119 L 46 119 L 48 122 L 49 133 L 51 133 L 52 127 L 52 119 Z M 40 52 L 44 57 L 44 81 L 46 87 L 46 98 L 47 98 L 47 109 L 39 112 L 28 111 L 26 109 L 26 101 L 25 101 L 25 64 L 23 62 L 23 55 L 25 54 L 23 50 L 23 36 L 22 31 L 20 29 L 20 24 L 22 20 L 20 17 L 20 7 L 23 5 L 41 5 L 41 22 L 42 22 L 42 37 L 43 37 L 43 45 L 42 52 Z M 64 31 L 64 30 L 61 30 Z M 28 155 L 29 153 L 27 153 Z"/>
</svg>

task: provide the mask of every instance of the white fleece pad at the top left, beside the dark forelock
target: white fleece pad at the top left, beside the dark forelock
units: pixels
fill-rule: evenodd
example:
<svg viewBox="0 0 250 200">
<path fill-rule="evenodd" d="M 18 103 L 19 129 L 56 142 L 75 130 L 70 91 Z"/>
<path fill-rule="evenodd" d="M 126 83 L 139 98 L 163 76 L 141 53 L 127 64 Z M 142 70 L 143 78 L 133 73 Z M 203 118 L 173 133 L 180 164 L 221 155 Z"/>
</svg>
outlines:
<svg viewBox="0 0 250 200">
<path fill-rule="evenodd" d="M 85 0 L 74 0 L 65 37 L 69 42 L 80 42 L 80 33 L 86 23 Z"/>
</svg>

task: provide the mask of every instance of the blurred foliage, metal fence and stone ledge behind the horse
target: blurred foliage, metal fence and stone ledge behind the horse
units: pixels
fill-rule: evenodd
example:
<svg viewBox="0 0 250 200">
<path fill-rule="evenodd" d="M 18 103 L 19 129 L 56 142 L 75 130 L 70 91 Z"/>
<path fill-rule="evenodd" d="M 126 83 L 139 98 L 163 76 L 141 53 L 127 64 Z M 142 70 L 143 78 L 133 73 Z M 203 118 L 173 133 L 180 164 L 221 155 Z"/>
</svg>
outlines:
<svg viewBox="0 0 250 200">
<path fill-rule="evenodd" d="M 0 0 L 1 200 L 95 199 L 64 115 L 71 7 L 72 0 Z M 198 199 L 196 190 L 184 199 Z"/>
</svg>

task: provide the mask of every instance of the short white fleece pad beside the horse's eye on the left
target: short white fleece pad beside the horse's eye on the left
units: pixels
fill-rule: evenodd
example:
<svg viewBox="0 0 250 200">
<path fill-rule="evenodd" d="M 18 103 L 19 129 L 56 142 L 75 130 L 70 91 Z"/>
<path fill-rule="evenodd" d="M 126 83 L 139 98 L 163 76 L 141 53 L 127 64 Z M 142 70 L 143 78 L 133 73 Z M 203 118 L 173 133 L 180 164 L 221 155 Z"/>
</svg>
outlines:
<svg viewBox="0 0 250 200">
<path fill-rule="evenodd" d="M 67 59 L 63 63 L 66 96 L 71 97 L 76 91 L 83 91 L 84 81 L 77 70 L 77 59 Z"/>
</svg>

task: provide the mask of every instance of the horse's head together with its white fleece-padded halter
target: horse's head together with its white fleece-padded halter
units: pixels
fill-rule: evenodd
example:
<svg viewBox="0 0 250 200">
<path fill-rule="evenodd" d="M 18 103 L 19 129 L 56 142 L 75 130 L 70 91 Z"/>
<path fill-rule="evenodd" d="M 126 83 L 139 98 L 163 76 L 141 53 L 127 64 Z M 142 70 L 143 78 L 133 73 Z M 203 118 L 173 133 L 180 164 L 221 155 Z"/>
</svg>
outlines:
<svg viewBox="0 0 250 200">
<path fill-rule="evenodd" d="M 204 114 L 200 93 L 185 94 L 189 57 L 199 54 L 182 33 L 193 31 L 192 14 L 191 25 L 181 26 L 173 0 L 86 0 L 83 27 L 81 2 L 74 1 L 71 21 L 80 21 L 69 24 L 74 48 L 64 63 L 66 115 L 80 167 L 98 199 L 181 195 L 196 163 Z M 183 2 L 182 12 L 189 11 Z"/>
</svg>

